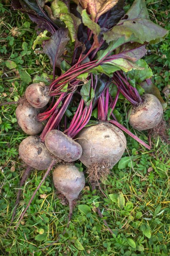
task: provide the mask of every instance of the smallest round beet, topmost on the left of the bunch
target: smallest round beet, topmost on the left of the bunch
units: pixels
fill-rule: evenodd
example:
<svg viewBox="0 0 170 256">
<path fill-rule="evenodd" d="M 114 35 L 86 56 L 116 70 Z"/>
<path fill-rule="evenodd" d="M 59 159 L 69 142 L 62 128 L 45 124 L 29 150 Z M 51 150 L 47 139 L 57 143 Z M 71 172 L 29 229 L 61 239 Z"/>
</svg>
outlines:
<svg viewBox="0 0 170 256">
<path fill-rule="evenodd" d="M 25 90 L 25 97 L 34 108 L 42 108 L 49 102 L 48 90 L 48 86 L 42 82 L 31 84 Z"/>
</svg>

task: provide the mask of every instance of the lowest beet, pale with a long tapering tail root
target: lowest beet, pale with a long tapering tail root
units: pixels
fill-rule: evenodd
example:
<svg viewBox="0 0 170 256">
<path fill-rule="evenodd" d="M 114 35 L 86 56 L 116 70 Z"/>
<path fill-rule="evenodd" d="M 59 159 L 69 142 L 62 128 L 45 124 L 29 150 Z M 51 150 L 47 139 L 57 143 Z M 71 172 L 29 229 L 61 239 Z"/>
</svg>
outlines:
<svg viewBox="0 0 170 256">
<path fill-rule="evenodd" d="M 73 164 L 59 164 L 53 171 L 53 183 L 58 191 L 60 191 L 69 201 L 69 221 L 72 216 L 73 200 L 79 196 L 84 188 L 84 173 Z"/>
</svg>

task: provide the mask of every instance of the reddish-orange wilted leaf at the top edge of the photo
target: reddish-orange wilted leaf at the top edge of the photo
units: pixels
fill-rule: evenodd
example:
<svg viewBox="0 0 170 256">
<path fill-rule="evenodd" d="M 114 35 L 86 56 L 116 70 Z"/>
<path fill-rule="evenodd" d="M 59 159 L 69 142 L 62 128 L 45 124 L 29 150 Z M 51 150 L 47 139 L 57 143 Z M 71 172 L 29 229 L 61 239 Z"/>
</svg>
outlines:
<svg viewBox="0 0 170 256">
<path fill-rule="evenodd" d="M 118 0 L 79 0 L 83 9 L 87 9 L 91 14 L 91 18 L 94 21 L 113 8 L 117 4 Z"/>
</svg>

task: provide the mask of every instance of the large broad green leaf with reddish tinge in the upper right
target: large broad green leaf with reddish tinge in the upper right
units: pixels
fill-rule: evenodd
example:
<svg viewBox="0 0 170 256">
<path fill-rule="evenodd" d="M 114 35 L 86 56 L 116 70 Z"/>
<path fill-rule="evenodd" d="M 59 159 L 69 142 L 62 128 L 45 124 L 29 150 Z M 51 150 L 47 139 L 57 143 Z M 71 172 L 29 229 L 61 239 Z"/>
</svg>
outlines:
<svg viewBox="0 0 170 256">
<path fill-rule="evenodd" d="M 135 41 L 141 44 L 144 42 L 156 44 L 162 41 L 167 34 L 167 30 L 149 19 L 145 2 L 143 0 L 136 0 L 117 25 L 112 30 L 104 33 L 104 40 L 109 43 L 121 36 L 128 40 L 129 37 L 134 35 L 136 37 Z"/>
</svg>

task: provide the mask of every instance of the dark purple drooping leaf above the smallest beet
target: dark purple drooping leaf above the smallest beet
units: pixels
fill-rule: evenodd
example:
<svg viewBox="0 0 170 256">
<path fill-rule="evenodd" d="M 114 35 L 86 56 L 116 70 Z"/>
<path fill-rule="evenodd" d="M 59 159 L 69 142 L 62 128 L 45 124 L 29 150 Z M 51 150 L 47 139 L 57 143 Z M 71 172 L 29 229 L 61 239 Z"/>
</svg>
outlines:
<svg viewBox="0 0 170 256">
<path fill-rule="evenodd" d="M 48 55 L 53 67 L 60 65 L 59 58 L 65 51 L 67 42 L 69 42 L 68 30 L 66 28 L 60 28 L 44 46 L 43 51 Z"/>
</svg>

